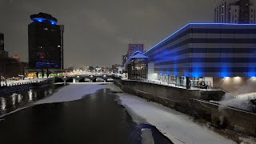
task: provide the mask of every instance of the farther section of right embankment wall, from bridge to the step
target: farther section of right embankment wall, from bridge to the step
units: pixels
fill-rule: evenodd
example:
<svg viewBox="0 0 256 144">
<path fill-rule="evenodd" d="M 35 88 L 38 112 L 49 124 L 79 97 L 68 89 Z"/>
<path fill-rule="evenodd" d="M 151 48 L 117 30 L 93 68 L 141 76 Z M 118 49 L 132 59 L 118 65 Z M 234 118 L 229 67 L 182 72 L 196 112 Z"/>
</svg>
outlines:
<svg viewBox="0 0 256 144">
<path fill-rule="evenodd" d="M 126 93 L 159 102 L 186 114 L 190 114 L 190 98 L 218 101 L 224 95 L 224 92 L 220 90 L 186 90 L 147 82 L 124 81 L 117 78 L 114 78 L 114 83 Z"/>
</svg>

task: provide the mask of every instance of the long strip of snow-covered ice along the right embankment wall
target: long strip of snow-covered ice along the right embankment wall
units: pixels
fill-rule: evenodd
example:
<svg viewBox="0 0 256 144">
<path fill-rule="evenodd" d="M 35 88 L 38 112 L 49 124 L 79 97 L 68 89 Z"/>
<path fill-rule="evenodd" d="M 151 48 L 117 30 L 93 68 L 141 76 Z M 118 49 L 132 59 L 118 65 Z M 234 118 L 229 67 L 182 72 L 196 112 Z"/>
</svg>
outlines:
<svg viewBox="0 0 256 144">
<path fill-rule="evenodd" d="M 159 105 L 147 102 L 145 99 L 121 93 L 118 94 L 122 105 L 126 107 L 134 122 L 150 123 L 176 143 L 190 144 L 228 144 L 235 143 L 222 137 L 204 126 L 193 122 L 193 118 L 186 114 Z"/>
</svg>

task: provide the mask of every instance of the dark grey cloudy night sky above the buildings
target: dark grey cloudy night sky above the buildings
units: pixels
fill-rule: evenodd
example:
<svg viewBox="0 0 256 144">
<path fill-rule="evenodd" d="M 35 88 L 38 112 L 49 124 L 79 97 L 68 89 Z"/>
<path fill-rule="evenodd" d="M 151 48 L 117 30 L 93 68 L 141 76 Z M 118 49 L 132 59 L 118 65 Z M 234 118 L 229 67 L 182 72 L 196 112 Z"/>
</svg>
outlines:
<svg viewBox="0 0 256 144">
<path fill-rule="evenodd" d="M 27 61 L 27 25 L 39 12 L 65 25 L 66 66 L 110 66 L 129 42 L 148 49 L 188 22 L 213 22 L 214 0 L 0 0 L 10 55 Z"/>
</svg>

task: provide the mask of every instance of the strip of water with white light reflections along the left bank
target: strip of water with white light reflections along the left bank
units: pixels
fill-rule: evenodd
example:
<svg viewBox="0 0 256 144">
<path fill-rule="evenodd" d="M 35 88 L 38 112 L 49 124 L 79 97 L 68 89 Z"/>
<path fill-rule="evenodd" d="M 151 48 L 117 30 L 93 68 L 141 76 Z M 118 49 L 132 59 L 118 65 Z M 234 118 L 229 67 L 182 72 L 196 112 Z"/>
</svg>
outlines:
<svg viewBox="0 0 256 144">
<path fill-rule="evenodd" d="M 16 110 L 18 107 L 25 106 L 30 102 L 45 98 L 62 86 L 64 86 L 64 84 L 36 87 L 30 90 L 20 90 L 9 94 L 0 94 L 0 115 Z"/>
</svg>

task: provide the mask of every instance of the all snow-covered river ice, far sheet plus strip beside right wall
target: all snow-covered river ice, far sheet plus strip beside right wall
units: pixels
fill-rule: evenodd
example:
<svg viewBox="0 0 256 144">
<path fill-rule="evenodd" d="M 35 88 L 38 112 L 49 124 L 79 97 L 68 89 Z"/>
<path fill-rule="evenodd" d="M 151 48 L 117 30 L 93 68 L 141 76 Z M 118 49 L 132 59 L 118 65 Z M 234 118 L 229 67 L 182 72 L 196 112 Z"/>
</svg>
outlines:
<svg viewBox="0 0 256 144">
<path fill-rule="evenodd" d="M 114 91 L 122 91 L 114 84 L 99 85 L 98 83 L 71 83 L 62 87 L 50 97 L 35 102 L 35 105 L 52 102 L 69 102 L 83 98 L 86 94 L 93 94 L 96 90 L 109 88 Z M 186 114 L 171 110 L 154 102 L 136 96 L 118 93 L 120 102 L 126 107 L 134 122 L 149 123 L 170 138 L 175 144 L 232 144 L 229 139 L 214 133 L 207 127 L 199 126 Z M 148 133 L 148 131 L 143 131 Z M 144 139 L 145 142 L 151 142 Z"/>
</svg>

